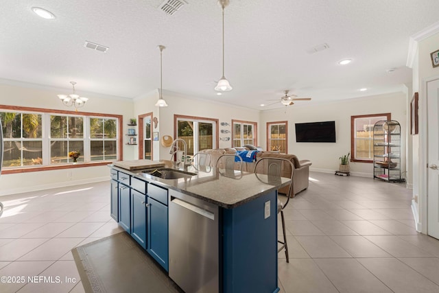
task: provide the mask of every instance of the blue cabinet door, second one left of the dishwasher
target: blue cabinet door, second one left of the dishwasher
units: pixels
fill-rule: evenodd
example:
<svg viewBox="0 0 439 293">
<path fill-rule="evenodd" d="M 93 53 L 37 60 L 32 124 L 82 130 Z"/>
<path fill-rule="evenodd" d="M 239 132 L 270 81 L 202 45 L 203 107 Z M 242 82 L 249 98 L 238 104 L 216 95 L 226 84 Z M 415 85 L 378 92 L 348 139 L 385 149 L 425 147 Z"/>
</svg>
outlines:
<svg viewBox="0 0 439 293">
<path fill-rule="evenodd" d="M 146 196 L 131 189 L 131 236 L 146 249 Z"/>
</svg>

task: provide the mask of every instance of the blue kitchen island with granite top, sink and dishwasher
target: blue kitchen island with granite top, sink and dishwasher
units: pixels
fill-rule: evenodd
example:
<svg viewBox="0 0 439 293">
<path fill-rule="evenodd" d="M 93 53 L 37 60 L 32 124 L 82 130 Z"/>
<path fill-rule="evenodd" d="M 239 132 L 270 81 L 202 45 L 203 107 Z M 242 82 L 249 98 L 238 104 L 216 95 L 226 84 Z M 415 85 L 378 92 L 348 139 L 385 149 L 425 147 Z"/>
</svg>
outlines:
<svg viewBox="0 0 439 293">
<path fill-rule="evenodd" d="M 110 165 L 112 218 L 187 293 L 278 292 L 276 190 L 289 178 L 165 164 Z"/>
</svg>

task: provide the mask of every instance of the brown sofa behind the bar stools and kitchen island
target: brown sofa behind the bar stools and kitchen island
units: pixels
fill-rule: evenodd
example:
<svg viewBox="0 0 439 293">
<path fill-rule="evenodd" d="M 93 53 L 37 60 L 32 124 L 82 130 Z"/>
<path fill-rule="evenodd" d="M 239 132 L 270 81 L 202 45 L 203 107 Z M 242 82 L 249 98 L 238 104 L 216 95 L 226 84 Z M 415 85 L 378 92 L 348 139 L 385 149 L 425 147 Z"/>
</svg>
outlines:
<svg viewBox="0 0 439 293">
<path fill-rule="evenodd" d="M 202 150 L 202 153 L 210 154 L 211 155 L 211 163 L 210 165 L 212 167 L 215 167 L 219 156 L 222 154 L 235 154 L 237 151 L 240 150 L 248 150 L 248 148 L 222 148 L 222 149 L 209 149 L 209 150 Z M 288 161 L 291 161 L 293 163 L 294 169 L 291 170 L 291 165 L 285 163 L 283 176 L 289 177 L 291 176 L 291 172 L 294 172 L 293 177 L 293 194 L 292 197 L 294 197 L 296 194 L 298 194 L 300 191 L 303 191 L 308 188 L 309 186 L 309 166 L 312 165 L 311 161 L 309 160 L 302 160 L 300 161 L 296 155 L 294 154 L 280 154 L 278 152 L 257 152 L 256 154 L 256 161 L 258 161 L 261 158 L 282 158 L 287 159 Z M 239 163 L 235 163 L 235 169 L 238 169 Z M 253 172 L 254 165 L 256 165 L 256 162 L 252 163 L 242 163 L 241 170 L 244 172 Z M 282 187 L 278 190 L 281 194 L 287 194 L 289 190 L 289 185 Z"/>
</svg>

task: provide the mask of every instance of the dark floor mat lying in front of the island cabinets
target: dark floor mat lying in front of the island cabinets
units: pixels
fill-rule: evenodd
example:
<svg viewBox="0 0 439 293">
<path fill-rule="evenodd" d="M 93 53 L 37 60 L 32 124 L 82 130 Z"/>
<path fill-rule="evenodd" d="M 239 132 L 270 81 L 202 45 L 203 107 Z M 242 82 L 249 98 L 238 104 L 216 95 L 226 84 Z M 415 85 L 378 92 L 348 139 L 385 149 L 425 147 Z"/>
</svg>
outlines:
<svg viewBox="0 0 439 293">
<path fill-rule="evenodd" d="M 86 293 L 182 292 L 126 232 L 72 249 Z"/>
</svg>

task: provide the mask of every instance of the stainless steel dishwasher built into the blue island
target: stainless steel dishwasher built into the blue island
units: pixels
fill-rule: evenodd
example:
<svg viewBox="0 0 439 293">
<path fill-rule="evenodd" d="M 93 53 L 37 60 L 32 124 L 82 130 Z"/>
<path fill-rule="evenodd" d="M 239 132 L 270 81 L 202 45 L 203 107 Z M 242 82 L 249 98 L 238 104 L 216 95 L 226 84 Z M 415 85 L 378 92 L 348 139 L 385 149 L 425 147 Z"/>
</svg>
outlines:
<svg viewBox="0 0 439 293">
<path fill-rule="evenodd" d="M 219 209 L 169 189 L 169 277 L 187 293 L 219 292 Z"/>
</svg>

